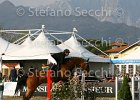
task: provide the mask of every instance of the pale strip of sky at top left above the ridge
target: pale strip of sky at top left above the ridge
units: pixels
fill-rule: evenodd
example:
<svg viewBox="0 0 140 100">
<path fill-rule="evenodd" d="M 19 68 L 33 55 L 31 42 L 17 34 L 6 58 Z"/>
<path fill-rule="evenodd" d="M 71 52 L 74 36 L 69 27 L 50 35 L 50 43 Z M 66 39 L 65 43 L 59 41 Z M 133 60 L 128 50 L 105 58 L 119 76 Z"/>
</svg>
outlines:
<svg viewBox="0 0 140 100">
<path fill-rule="evenodd" d="M 6 0 L 0 0 L 0 3 Z M 46 6 L 54 3 L 55 1 L 59 0 L 9 0 L 14 5 L 24 5 L 24 6 L 31 6 L 31 7 L 38 7 L 38 6 Z"/>
</svg>

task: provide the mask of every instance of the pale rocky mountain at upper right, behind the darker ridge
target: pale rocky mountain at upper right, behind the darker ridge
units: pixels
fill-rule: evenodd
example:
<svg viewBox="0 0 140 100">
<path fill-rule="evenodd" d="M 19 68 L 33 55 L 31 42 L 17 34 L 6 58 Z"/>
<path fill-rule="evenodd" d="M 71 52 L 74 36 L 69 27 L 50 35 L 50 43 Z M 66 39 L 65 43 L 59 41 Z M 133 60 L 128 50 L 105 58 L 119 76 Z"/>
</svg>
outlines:
<svg viewBox="0 0 140 100">
<path fill-rule="evenodd" d="M 59 3 L 58 3 L 59 2 Z M 61 2 L 61 3 L 60 3 Z M 130 26 L 140 27 L 140 13 L 137 12 L 140 9 L 140 0 L 58 0 L 53 3 L 55 7 L 63 8 L 67 6 L 72 10 L 79 7 L 82 10 L 108 11 L 111 12 L 111 16 L 94 16 L 100 21 L 109 21 L 113 23 L 125 23 Z"/>
</svg>

